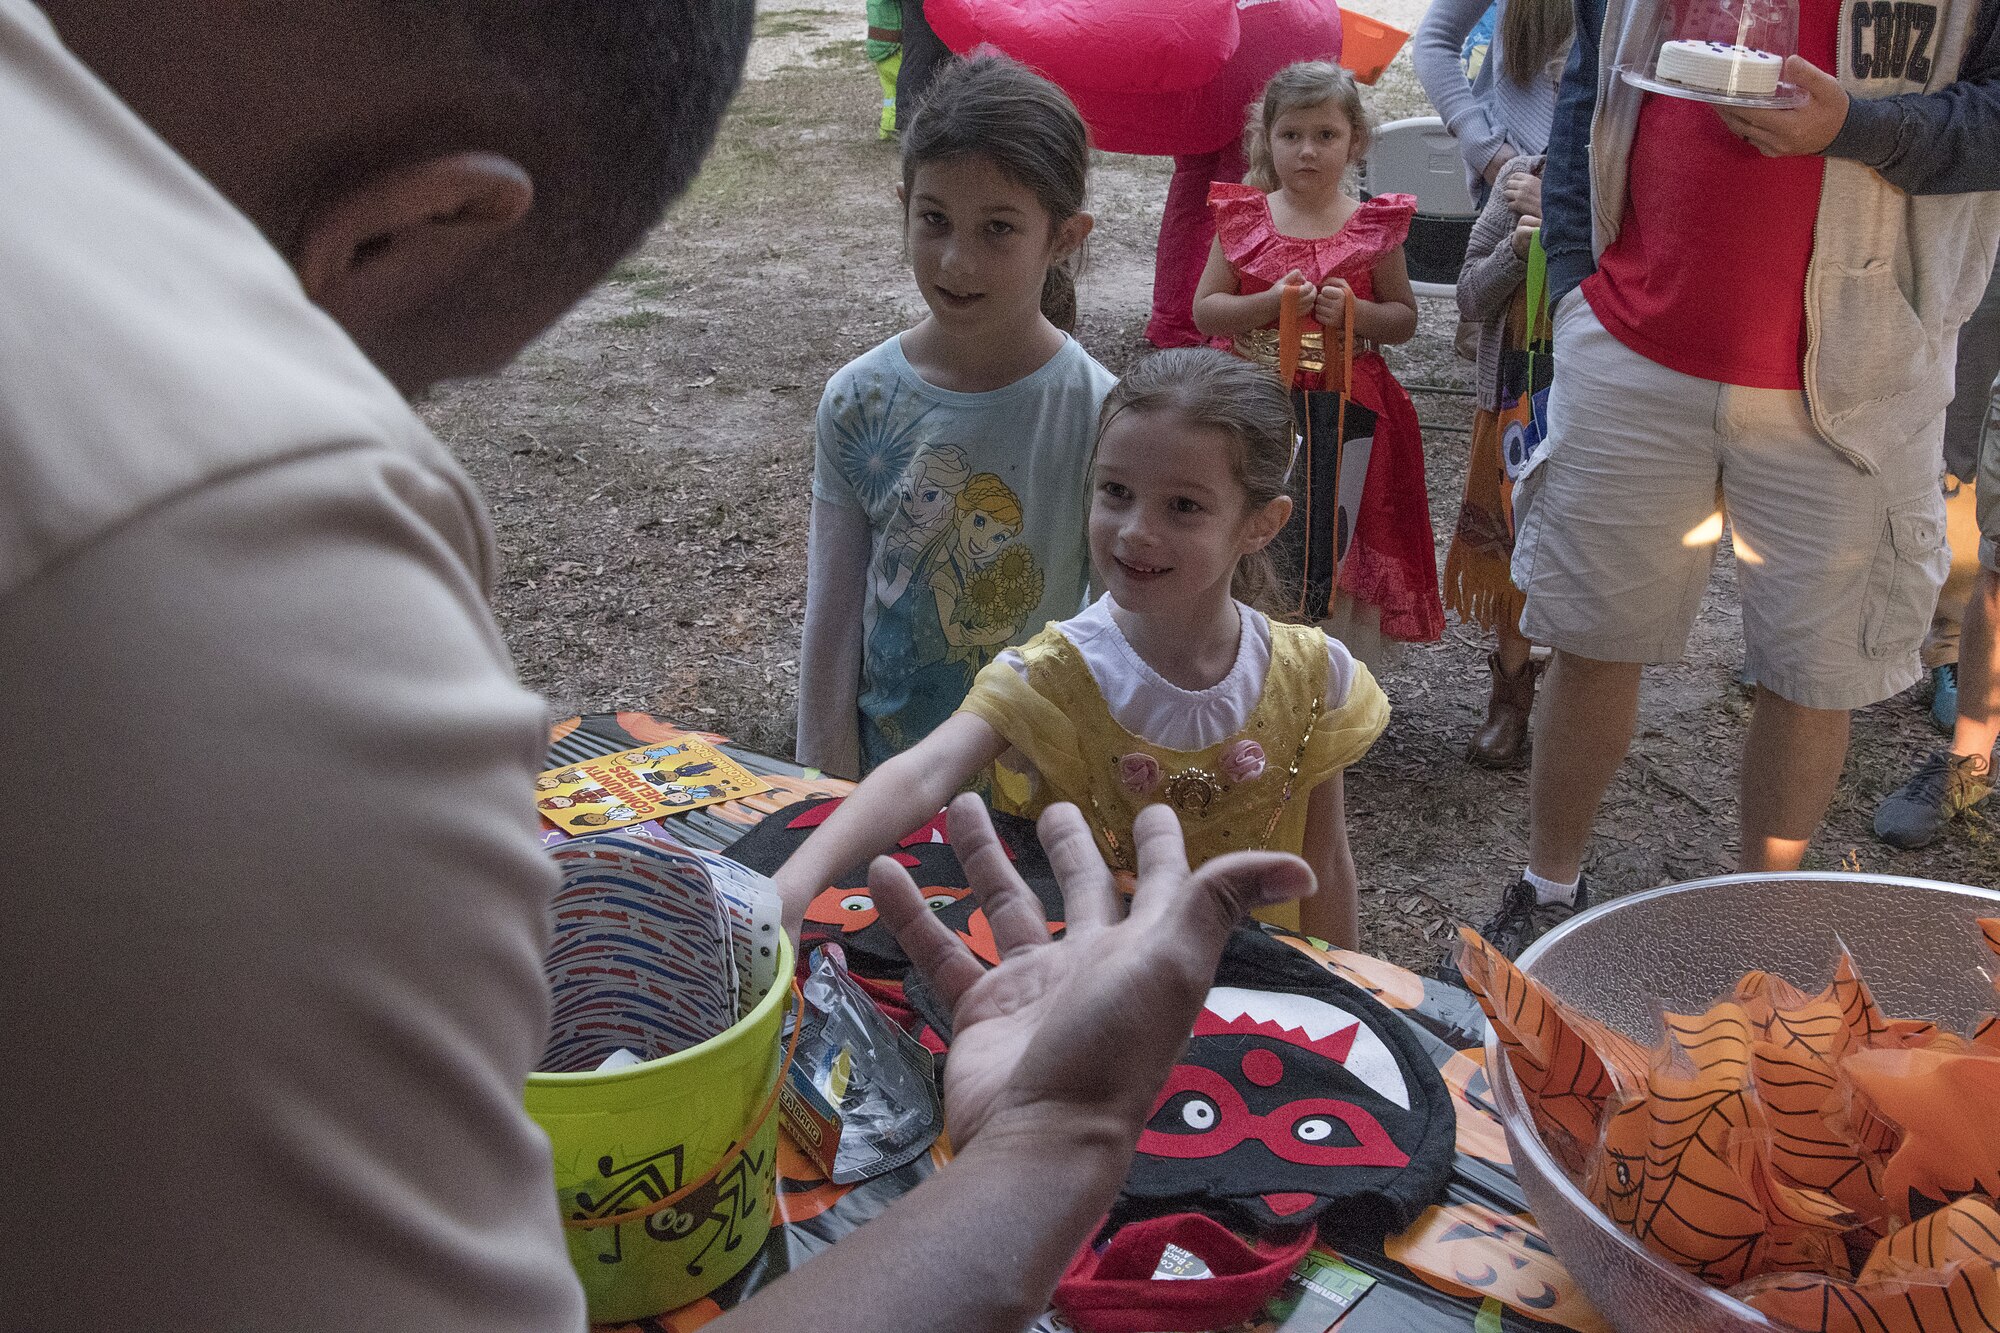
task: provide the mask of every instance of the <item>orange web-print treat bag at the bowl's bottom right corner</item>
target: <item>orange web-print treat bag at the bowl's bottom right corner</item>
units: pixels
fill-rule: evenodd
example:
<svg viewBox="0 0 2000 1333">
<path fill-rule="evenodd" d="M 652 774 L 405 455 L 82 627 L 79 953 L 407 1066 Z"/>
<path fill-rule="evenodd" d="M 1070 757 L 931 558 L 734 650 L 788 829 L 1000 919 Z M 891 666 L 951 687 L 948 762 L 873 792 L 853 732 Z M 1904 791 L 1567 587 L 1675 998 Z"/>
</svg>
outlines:
<svg viewBox="0 0 2000 1333">
<path fill-rule="evenodd" d="M 1804 1333 L 2000 1333 L 2000 1213 L 1960 1199 L 1878 1241 L 1852 1283 L 1800 1273 L 1736 1295 Z"/>
</svg>

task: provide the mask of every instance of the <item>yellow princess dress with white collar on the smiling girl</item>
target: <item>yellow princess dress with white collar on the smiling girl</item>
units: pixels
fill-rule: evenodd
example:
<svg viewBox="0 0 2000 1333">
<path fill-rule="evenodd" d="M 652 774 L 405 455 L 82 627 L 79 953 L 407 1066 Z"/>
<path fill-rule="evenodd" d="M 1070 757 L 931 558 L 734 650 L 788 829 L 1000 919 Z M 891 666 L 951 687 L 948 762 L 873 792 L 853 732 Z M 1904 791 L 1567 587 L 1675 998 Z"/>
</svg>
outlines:
<svg viewBox="0 0 2000 1333">
<path fill-rule="evenodd" d="M 1122 871 L 1136 869 L 1132 819 L 1162 801 L 1180 815 L 1188 865 L 1302 851 L 1308 795 L 1368 753 L 1388 697 L 1318 628 L 1236 608 L 1236 662 L 1204 691 L 1148 666 L 1110 596 L 984 666 L 960 707 L 1012 747 L 994 771 L 994 805 L 1032 819 L 1074 803 Z M 1296 929 L 1298 905 L 1258 917 Z"/>
</svg>

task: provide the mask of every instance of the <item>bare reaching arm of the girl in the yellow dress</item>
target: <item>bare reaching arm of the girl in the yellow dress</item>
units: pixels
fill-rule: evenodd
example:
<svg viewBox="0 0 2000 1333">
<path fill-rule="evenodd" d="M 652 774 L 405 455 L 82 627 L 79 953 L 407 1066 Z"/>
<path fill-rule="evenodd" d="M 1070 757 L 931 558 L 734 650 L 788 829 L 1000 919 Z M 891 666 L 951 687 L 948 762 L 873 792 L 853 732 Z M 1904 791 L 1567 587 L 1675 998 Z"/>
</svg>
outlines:
<svg viewBox="0 0 2000 1333">
<path fill-rule="evenodd" d="M 986 719 L 954 713 L 870 773 L 772 877 L 784 895 L 784 929 L 792 939 L 820 889 L 922 827 L 1004 751 L 1006 741 Z"/>
</svg>

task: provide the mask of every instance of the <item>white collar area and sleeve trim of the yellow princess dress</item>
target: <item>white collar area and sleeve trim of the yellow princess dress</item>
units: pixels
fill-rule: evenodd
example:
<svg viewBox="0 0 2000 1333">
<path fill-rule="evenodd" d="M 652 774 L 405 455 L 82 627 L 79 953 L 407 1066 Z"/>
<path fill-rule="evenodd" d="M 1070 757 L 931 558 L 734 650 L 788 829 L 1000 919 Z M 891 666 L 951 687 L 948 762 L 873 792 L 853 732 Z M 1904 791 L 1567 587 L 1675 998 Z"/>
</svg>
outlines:
<svg viewBox="0 0 2000 1333">
<path fill-rule="evenodd" d="M 1106 592 L 1072 620 L 1056 628 L 1068 638 L 1084 666 L 1090 669 L 1098 693 L 1110 707 L 1112 721 L 1148 745 L 1168 751 L 1204 751 L 1228 741 L 1250 725 L 1258 699 L 1264 697 L 1264 677 L 1270 673 L 1270 620 L 1262 612 L 1236 602 L 1242 634 L 1236 644 L 1236 664 L 1206 691 L 1184 691 L 1132 650 L 1118 620 L 1112 618 L 1112 598 Z M 1004 648 L 998 660 L 1028 679 L 1028 662 L 1018 648 Z M 1326 703 L 1338 709 L 1348 701 L 1354 683 L 1354 658 L 1326 640 Z"/>
</svg>

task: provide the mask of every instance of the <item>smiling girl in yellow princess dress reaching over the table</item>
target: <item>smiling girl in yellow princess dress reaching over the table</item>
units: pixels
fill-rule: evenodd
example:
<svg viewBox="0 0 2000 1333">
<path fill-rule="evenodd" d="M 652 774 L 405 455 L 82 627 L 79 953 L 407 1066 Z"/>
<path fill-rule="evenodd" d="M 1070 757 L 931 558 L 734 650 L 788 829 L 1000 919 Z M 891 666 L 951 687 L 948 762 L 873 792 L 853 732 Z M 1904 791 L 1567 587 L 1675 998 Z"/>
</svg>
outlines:
<svg viewBox="0 0 2000 1333">
<path fill-rule="evenodd" d="M 1298 853 L 1320 893 L 1260 915 L 1356 947 L 1340 773 L 1382 735 L 1388 699 L 1336 640 L 1250 604 L 1292 516 L 1294 442 L 1286 388 L 1250 362 L 1176 348 L 1126 374 L 1092 462 L 1104 596 L 1004 650 L 958 713 L 868 775 L 778 871 L 792 917 L 992 767 L 1000 809 L 1074 803 L 1114 867 L 1132 869 L 1132 819 L 1162 801 L 1194 865 Z"/>
</svg>

